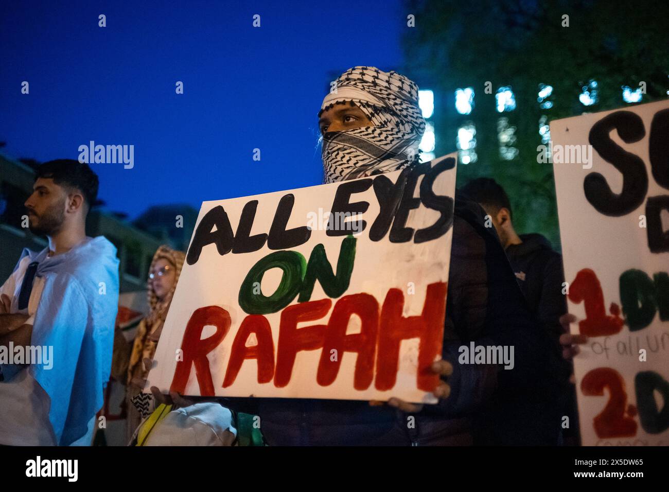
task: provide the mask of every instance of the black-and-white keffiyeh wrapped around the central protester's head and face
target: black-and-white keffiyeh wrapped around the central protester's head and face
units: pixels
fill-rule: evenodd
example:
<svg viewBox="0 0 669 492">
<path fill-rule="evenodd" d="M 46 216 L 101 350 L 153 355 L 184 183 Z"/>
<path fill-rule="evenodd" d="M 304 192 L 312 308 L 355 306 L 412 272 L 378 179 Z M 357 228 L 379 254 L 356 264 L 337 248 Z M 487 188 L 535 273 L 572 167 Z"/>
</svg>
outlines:
<svg viewBox="0 0 669 492">
<path fill-rule="evenodd" d="M 341 74 L 336 84 L 337 92 L 325 96 L 318 116 L 335 104 L 353 101 L 374 126 L 324 133 L 324 183 L 397 171 L 419 160 L 425 119 L 415 83 L 397 72 L 357 66 Z"/>
</svg>

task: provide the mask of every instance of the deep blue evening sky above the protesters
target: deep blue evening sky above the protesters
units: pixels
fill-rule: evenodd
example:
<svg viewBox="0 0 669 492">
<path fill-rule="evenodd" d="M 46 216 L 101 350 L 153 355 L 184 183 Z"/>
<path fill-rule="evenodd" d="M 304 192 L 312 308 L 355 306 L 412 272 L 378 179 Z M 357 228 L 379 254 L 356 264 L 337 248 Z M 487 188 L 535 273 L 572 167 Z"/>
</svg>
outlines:
<svg viewBox="0 0 669 492">
<path fill-rule="evenodd" d="M 399 0 L 119 3 L 0 5 L 0 141 L 38 161 L 77 159 L 91 140 L 134 145 L 133 169 L 92 165 L 98 196 L 131 218 L 320 184 L 330 72 L 401 68 Z"/>
</svg>

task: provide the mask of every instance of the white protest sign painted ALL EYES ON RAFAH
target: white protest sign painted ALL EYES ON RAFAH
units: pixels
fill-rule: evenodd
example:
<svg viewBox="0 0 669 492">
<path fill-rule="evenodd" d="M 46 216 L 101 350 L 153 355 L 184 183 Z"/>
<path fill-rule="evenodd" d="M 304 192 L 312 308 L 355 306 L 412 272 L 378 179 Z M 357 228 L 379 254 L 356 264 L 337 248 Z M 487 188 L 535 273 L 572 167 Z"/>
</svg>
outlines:
<svg viewBox="0 0 669 492">
<path fill-rule="evenodd" d="M 147 388 L 436 402 L 455 181 L 452 154 L 203 202 Z"/>
</svg>

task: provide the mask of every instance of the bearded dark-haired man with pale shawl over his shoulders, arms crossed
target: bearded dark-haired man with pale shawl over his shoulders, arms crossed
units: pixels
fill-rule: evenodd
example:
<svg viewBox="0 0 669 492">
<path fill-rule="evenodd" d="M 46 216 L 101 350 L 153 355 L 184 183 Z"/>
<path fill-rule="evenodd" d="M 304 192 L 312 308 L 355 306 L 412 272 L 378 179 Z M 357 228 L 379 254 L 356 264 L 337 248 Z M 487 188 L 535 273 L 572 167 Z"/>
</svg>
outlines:
<svg viewBox="0 0 669 492">
<path fill-rule="evenodd" d="M 31 232 L 49 245 L 25 248 L 0 289 L 0 444 L 91 443 L 118 309 L 116 248 L 104 236 L 86 236 L 97 193 L 87 164 L 60 159 L 37 169 L 25 207 Z M 3 348 L 39 347 L 41 361 L 1 357 Z"/>
</svg>

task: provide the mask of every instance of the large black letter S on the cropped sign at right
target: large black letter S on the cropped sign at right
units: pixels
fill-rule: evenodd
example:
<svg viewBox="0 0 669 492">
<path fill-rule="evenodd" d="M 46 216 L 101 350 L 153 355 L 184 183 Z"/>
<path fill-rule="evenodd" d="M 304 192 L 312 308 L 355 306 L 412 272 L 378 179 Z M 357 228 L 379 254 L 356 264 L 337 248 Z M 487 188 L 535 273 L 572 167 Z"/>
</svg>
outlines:
<svg viewBox="0 0 669 492">
<path fill-rule="evenodd" d="M 648 173 L 644 161 L 619 147 L 609 133 L 617 130 L 625 143 L 638 142 L 646 135 L 644 122 L 631 111 L 616 111 L 601 118 L 590 129 L 589 141 L 601 158 L 623 175 L 623 189 L 619 195 L 613 193 L 605 177 L 590 173 L 583 180 L 585 198 L 605 216 L 619 217 L 629 214 L 642 203 L 648 191 Z"/>
</svg>

